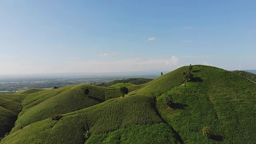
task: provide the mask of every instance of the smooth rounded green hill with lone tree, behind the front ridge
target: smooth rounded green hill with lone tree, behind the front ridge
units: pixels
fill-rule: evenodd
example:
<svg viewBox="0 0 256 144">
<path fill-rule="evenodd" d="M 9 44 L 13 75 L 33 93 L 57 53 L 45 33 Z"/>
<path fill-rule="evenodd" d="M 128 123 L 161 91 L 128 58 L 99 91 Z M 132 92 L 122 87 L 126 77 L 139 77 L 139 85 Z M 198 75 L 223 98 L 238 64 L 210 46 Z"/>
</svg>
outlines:
<svg viewBox="0 0 256 144">
<path fill-rule="evenodd" d="M 89 95 L 84 95 L 84 89 L 89 89 Z M 27 96 L 22 105 L 24 108 L 18 115 L 15 127 L 12 132 L 34 122 L 44 120 L 55 114 L 65 114 L 81 110 L 96 104 L 100 104 L 107 99 L 115 98 L 115 92 L 122 96 L 120 90 L 108 93 L 108 88 L 97 87 L 87 84 L 66 86 L 59 89 L 45 90 L 37 94 Z M 118 96 L 118 97 L 120 97 Z"/>
</svg>

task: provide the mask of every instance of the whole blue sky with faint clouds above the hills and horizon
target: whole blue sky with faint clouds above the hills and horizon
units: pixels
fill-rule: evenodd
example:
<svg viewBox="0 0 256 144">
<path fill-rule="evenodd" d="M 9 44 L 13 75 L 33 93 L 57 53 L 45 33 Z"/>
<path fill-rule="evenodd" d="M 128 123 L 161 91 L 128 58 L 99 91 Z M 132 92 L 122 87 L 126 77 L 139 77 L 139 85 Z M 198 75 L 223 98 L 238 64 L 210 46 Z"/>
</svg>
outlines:
<svg viewBox="0 0 256 144">
<path fill-rule="evenodd" d="M 256 69 L 255 0 L 0 0 L 0 74 Z"/>
</svg>

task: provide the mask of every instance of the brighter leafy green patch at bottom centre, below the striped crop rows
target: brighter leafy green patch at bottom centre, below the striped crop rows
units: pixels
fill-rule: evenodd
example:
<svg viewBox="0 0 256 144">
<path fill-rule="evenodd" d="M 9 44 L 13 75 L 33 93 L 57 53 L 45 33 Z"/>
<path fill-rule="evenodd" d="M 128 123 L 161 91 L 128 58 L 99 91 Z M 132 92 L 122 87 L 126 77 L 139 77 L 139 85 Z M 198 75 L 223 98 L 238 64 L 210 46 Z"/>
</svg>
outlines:
<svg viewBox="0 0 256 144">
<path fill-rule="evenodd" d="M 146 124 L 92 135 L 85 144 L 177 144 L 167 124 Z"/>
</svg>

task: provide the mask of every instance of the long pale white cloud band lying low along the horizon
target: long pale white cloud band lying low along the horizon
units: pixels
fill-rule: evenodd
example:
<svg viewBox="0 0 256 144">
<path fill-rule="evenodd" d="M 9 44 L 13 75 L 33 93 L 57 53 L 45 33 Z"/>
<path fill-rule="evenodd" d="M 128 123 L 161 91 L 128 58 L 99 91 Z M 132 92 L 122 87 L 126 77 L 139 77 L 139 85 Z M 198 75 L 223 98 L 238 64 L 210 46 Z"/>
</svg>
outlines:
<svg viewBox="0 0 256 144">
<path fill-rule="evenodd" d="M 170 59 L 140 58 L 127 60 L 72 60 L 69 62 L 38 62 L 38 61 L 12 61 L 5 64 L 0 61 L 3 69 L 0 74 L 38 74 L 58 72 L 130 72 L 145 70 L 175 70 L 181 65 L 179 58 L 172 56 Z"/>
</svg>

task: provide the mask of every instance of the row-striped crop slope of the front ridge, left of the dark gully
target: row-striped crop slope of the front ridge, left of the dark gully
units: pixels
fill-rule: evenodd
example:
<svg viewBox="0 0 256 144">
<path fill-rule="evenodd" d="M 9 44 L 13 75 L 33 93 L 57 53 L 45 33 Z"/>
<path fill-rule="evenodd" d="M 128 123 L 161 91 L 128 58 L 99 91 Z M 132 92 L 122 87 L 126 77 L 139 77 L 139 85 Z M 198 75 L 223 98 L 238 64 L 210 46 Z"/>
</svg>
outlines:
<svg viewBox="0 0 256 144">
<path fill-rule="evenodd" d="M 126 126 L 162 122 L 152 107 L 152 102 L 154 99 L 144 96 L 108 100 L 90 108 L 64 114 L 59 121 L 47 118 L 30 124 L 4 138 L 1 144 L 39 141 L 82 144 L 84 143 L 82 134 L 85 130 L 89 130 L 90 134 L 94 135 Z"/>
</svg>

